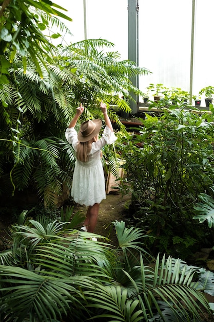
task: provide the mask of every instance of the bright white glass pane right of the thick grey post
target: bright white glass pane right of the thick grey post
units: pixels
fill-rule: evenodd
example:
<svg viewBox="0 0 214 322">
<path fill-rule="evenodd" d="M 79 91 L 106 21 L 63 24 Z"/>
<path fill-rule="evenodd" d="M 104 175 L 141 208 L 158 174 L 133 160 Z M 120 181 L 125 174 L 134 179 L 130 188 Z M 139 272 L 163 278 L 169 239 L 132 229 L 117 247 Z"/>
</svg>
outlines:
<svg viewBox="0 0 214 322">
<path fill-rule="evenodd" d="M 140 77 L 143 92 L 149 83 L 189 91 L 191 6 L 187 0 L 139 1 L 139 66 L 153 73 Z"/>
</svg>

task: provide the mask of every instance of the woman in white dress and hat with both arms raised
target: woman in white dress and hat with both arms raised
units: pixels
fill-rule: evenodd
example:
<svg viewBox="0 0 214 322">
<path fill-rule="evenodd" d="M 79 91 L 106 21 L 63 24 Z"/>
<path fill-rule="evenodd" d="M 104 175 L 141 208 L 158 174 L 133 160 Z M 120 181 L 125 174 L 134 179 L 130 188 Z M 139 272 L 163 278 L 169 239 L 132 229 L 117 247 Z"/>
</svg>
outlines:
<svg viewBox="0 0 214 322">
<path fill-rule="evenodd" d="M 101 150 L 106 144 L 112 144 L 116 140 L 106 104 L 101 102 L 100 108 L 106 124 L 100 139 L 102 121 L 99 119 L 83 122 L 78 134 L 74 129 L 84 111 L 82 104 L 76 109 L 76 114 L 65 132 L 66 139 L 76 153 L 71 196 L 76 203 L 88 206 L 84 226 L 81 228 L 88 232 L 94 232 L 100 203 L 106 199 Z"/>
</svg>

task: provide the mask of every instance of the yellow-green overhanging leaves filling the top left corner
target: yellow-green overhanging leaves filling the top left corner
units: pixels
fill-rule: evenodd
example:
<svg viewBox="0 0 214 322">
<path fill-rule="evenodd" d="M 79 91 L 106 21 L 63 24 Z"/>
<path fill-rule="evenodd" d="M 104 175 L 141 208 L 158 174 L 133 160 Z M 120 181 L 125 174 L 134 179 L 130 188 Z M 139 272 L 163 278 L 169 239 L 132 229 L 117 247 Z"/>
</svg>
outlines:
<svg viewBox="0 0 214 322">
<path fill-rule="evenodd" d="M 54 46 L 44 34 L 50 25 L 66 29 L 59 20 L 72 19 L 60 10 L 65 10 L 52 2 L 40 0 L 2 0 L 0 3 L 0 86 L 9 84 L 8 69 L 15 68 L 15 53 L 19 52 L 23 68 L 27 70 L 26 52 L 31 56 L 38 73 L 42 76 L 39 62 L 45 64 L 44 57 L 53 58 Z M 67 29 L 68 31 L 68 29 Z M 49 33 L 50 37 L 60 37 L 60 33 Z M 9 51 L 7 51 L 9 49 Z"/>
</svg>

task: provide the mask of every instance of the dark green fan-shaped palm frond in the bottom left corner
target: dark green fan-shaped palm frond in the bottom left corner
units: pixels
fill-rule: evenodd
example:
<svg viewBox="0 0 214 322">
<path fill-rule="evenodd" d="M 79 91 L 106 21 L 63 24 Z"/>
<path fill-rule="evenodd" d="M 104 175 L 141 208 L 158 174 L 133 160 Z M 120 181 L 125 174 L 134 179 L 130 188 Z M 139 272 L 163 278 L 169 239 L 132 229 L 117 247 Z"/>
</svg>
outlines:
<svg viewBox="0 0 214 322">
<path fill-rule="evenodd" d="M 78 303 L 81 292 L 68 279 L 56 279 L 38 275 L 20 267 L 0 266 L 1 299 L 4 307 L 1 314 L 13 313 L 23 320 L 34 312 L 39 320 L 50 321 L 62 318 L 62 313 L 70 310 L 70 303 Z M 13 296 L 10 290 L 13 289 Z M 76 295 L 76 296 L 75 296 Z"/>
</svg>

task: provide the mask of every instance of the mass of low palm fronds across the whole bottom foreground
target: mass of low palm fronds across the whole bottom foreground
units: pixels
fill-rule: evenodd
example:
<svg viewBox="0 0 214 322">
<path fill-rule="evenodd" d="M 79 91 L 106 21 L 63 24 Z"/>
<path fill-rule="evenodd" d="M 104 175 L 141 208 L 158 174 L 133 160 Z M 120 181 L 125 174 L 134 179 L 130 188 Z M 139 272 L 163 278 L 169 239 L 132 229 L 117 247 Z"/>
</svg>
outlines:
<svg viewBox="0 0 214 322">
<path fill-rule="evenodd" d="M 24 221 L 26 215 L 11 227 L 10 248 L 0 254 L 1 320 L 186 322 L 211 316 L 204 291 L 213 293 L 213 274 L 165 256 L 150 264 L 141 229 L 114 222 L 119 246 L 113 249 L 104 237 L 95 235 L 104 241 L 93 242 L 94 234 L 76 230 L 79 220 Z"/>
</svg>

